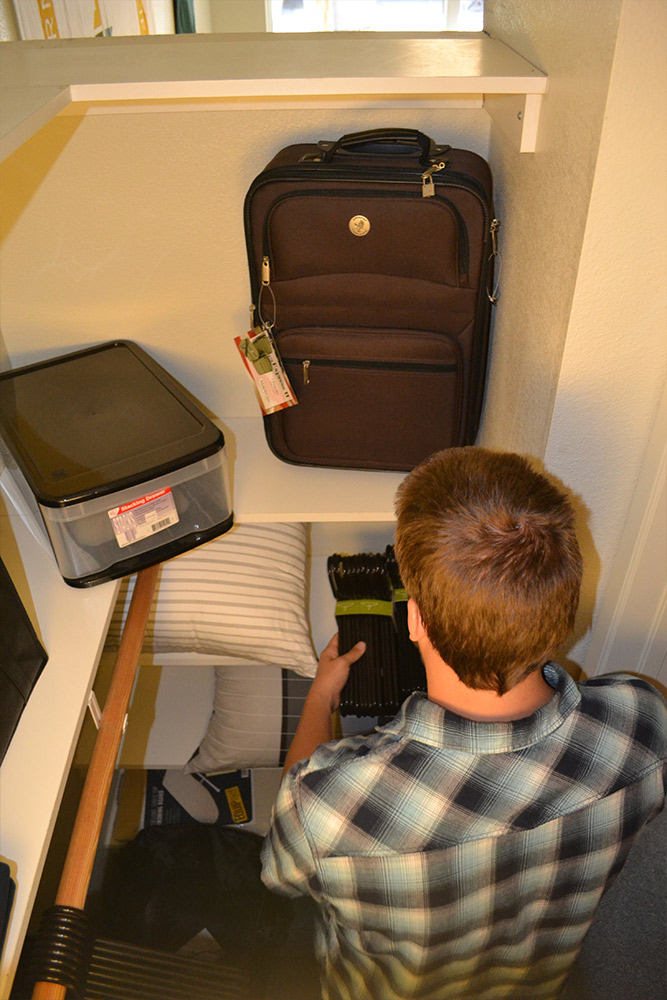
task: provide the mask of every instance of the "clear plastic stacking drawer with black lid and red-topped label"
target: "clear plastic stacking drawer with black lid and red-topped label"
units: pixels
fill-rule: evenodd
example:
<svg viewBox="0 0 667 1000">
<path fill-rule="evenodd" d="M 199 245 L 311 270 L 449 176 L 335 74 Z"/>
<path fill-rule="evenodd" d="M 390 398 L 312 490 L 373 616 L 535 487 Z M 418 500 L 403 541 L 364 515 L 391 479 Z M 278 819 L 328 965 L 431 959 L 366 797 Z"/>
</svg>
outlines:
<svg viewBox="0 0 667 1000">
<path fill-rule="evenodd" d="M 222 431 L 130 341 L 0 375 L 0 436 L 73 587 L 127 576 L 233 524 Z"/>
</svg>

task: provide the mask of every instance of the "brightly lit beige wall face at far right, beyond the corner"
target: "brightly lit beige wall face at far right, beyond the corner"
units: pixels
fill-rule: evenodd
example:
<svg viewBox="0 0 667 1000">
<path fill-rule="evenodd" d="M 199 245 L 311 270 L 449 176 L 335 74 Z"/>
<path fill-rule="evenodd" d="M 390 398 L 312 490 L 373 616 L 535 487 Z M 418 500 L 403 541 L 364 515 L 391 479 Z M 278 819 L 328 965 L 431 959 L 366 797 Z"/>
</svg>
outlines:
<svg viewBox="0 0 667 1000">
<path fill-rule="evenodd" d="M 624 0 L 546 452 L 590 512 L 582 626 L 605 597 L 667 374 L 665 52 L 664 0 Z M 643 474 L 657 481 L 657 466 Z M 649 546 L 632 585 L 654 581 L 657 600 L 665 568 Z M 627 600 L 627 620 L 615 623 L 620 638 L 645 627 L 631 620 L 632 607 Z M 578 662 L 588 638 L 573 649 Z"/>
</svg>

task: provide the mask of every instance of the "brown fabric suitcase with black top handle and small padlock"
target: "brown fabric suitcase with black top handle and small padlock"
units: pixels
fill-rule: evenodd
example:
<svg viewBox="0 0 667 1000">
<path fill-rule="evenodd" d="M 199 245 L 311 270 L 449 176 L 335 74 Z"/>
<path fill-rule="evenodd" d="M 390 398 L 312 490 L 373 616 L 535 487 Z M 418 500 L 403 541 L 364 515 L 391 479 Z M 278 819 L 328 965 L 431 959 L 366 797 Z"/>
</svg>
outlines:
<svg viewBox="0 0 667 1000">
<path fill-rule="evenodd" d="M 298 399 L 264 418 L 279 458 L 408 470 L 474 442 L 499 225 L 480 156 L 412 129 L 287 146 L 244 221 L 256 315 Z"/>
</svg>

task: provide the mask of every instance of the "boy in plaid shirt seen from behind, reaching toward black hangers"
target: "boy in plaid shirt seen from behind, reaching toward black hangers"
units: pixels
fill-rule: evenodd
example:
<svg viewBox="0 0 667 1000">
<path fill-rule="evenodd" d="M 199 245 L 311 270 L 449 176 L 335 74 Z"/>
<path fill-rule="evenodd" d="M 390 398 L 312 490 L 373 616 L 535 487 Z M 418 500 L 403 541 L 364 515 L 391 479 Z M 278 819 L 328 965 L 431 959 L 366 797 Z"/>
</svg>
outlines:
<svg viewBox="0 0 667 1000">
<path fill-rule="evenodd" d="M 331 742 L 364 648 L 339 655 L 332 639 L 262 878 L 319 905 L 327 1000 L 556 997 L 663 806 L 664 701 L 627 675 L 577 685 L 551 662 L 581 555 L 568 500 L 518 455 L 427 459 L 399 489 L 395 550 L 428 696 Z"/>
</svg>

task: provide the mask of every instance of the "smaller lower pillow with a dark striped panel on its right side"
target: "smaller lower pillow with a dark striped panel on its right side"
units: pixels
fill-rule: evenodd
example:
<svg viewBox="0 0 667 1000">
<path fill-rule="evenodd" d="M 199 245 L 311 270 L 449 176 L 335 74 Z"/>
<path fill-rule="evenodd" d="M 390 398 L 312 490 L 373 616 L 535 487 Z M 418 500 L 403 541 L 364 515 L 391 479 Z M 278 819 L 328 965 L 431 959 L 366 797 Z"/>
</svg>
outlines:
<svg viewBox="0 0 667 1000">
<path fill-rule="evenodd" d="M 216 667 L 213 714 L 185 771 L 282 766 L 310 684 L 275 666 Z"/>
</svg>

